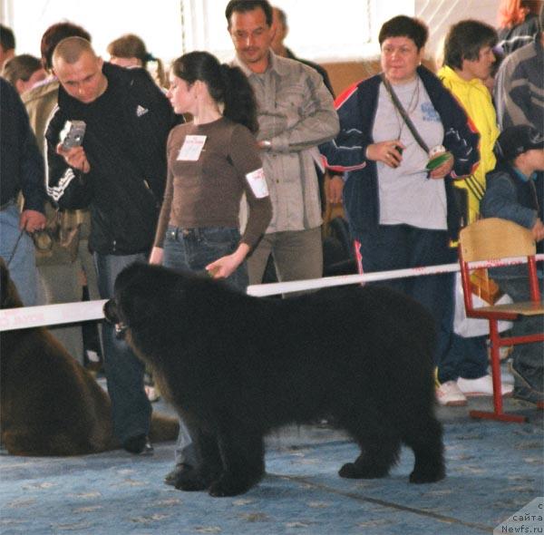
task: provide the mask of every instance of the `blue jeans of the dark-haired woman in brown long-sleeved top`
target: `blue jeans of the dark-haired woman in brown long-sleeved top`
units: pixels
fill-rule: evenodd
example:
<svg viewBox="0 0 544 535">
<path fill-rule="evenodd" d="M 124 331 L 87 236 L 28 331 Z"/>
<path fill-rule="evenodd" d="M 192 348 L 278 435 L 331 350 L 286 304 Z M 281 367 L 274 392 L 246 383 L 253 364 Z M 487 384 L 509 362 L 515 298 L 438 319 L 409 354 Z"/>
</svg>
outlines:
<svg viewBox="0 0 544 535">
<path fill-rule="evenodd" d="M 186 269 L 204 273 L 210 262 L 233 253 L 238 248 L 240 233 L 238 229 L 211 227 L 208 229 L 178 229 L 171 227 L 166 231 L 163 245 L 162 265 L 166 268 Z M 246 263 L 225 281 L 230 287 L 246 292 L 248 270 Z M 175 452 L 176 464 L 199 465 L 189 429 L 180 419 L 180 433 Z"/>
</svg>

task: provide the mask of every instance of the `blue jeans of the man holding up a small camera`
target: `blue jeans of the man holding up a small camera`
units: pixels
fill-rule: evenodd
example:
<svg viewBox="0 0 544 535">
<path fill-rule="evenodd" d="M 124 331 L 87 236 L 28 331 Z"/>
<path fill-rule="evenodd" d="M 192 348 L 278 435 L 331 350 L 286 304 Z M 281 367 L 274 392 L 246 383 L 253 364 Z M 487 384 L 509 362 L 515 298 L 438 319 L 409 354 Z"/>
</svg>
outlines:
<svg viewBox="0 0 544 535">
<path fill-rule="evenodd" d="M 102 299 L 113 297 L 113 284 L 122 268 L 133 262 L 147 263 L 144 254 L 116 256 L 94 253 L 98 291 Z M 102 324 L 104 372 L 112 400 L 113 431 L 124 443 L 150 432 L 151 403 L 143 388 L 145 365 L 124 340 L 115 336 L 114 326 Z"/>
</svg>

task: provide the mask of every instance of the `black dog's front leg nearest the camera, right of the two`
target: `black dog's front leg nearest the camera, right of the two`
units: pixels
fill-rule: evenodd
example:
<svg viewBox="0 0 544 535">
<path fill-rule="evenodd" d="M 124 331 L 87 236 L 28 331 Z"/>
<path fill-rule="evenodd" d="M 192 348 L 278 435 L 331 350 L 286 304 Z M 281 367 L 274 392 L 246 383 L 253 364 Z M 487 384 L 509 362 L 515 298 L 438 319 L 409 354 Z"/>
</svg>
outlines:
<svg viewBox="0 0 544 535">
<path fill-rule="evenodd" d="M 265 473 L 262 434 L 228 429 L 220 433 L 219 451 L 224 472 L 209 486 L 211 496 L 242 494 L 262 479 Z"/>
</svg>

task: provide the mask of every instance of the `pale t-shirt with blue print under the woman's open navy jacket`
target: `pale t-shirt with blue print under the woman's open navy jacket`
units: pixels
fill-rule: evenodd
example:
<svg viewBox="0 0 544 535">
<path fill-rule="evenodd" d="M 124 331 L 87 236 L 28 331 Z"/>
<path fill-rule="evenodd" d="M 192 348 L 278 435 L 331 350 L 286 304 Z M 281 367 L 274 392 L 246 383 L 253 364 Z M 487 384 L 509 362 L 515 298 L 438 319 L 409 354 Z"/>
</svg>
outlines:
<svg viewBox="0 0 544 535">
<path fill-rule="evenodd" d="M 444 129 L 438 112 L 419 77 L 413 82 L 394 85 L 393 91 L 429 148 L 442 143 Z M 378 109 L 373 129 L 374 142 L 400 139 L 406 147 L 396 169 L 376 162 L 380 192 L 380 224 L 406 224 L 420 229 L 447 229 L 444 180 L 427 178 L 424 170 L 429 155 L 423 151 L 380 85 Z"/>
</svg>

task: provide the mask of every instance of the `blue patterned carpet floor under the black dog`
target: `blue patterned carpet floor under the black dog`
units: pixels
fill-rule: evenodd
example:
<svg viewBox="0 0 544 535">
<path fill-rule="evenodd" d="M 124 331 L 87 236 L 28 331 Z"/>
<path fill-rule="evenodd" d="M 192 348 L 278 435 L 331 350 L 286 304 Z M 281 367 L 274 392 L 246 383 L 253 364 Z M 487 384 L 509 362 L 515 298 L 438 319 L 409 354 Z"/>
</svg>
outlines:
<svg viewBox="0 0 544 535">
<path fill-rule="evenodd" d="M 475 403 L 489 407 L 490 401 Z M 121 451 L 63 459 L 4 455 L 0 533 L 491 533 L 544 496 L 542 413 L 513 400 L 508 407 L 530 414 L 531 422 L 474 421 L 464 408 L 440 409 L 448 477 L 431 485 L 408 483 L 409 450 L 383 480 L 341 479 L 337 470 L 357 450 L 342 433 L 320 426 L 269 437 L 267 476 L 234 498 L 163 484 L 173 443 L 156 445 L 152 457 Z"/>
</svg>

